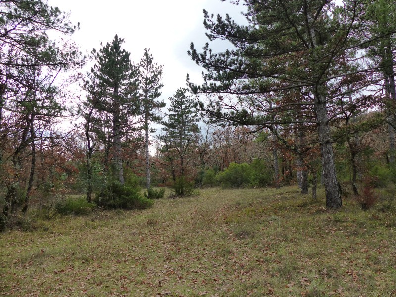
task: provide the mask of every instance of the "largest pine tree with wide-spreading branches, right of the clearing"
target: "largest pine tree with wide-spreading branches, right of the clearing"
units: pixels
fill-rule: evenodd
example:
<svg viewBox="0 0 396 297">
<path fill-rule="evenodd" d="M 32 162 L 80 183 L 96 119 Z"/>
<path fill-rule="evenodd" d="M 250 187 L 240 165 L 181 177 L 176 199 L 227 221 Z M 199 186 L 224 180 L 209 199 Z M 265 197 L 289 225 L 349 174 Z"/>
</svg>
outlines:
<svg viewBox="0 0 396 297">
<path fill-rule="evenodd" d="M 235 1 L 239 2 L 239 1 Z M 226 39 L 234 49 L 213 53 L 206 44 L 198 53 L 191 44 L 189 55 L 198 65 L 204 67 L 204 84 L 190 83 L 194 93 L 223 93 L 239 95 L 236 103 L 225 103 L 225 98 L 215 97 L 201 107 L 214 119 L 242 125 L 276 124 L 272 113 L 292 106 L 313 108 L 315 124 L 320 143 L 323 179 L 326 191 L 326 206 L 342 206 L 341 191 L 337 180 L 333 157 L 330 121 L 334 117 L 329 109 L 338 94 L 335 81 L 350 73 L 363 71 L 358 67 L 345 69 L 340 58 L 353 54 L 359 48 L 355 32 L 357 1 L 345 1 L 344 7 L 337 7 L 334 1 L 310 0 L 245 0 L 249 26 L 236 24 L 228 15 L 217 19 L 205 13 L 205 27 L 210 40 Z M 277 83 L 263 84 L 265 79 Z M 240 83 L 249 81 L 247 83 Z M 263 93 L 296 90 L 306 94 L 308 101 L 278 103 L 276 108 L 260 100 Z M 255 94 L 257 105 L 266 105 L 266 111 L 255 113 L 254 106 L 245 104 L 241 97 Z M 239 101 L 240 100 L 240 101 Z M 228 112 L 227 110 L 228 109 Z M 278 124 L 293 124 L 296 120 L 283 118 Z"/>
</svg>

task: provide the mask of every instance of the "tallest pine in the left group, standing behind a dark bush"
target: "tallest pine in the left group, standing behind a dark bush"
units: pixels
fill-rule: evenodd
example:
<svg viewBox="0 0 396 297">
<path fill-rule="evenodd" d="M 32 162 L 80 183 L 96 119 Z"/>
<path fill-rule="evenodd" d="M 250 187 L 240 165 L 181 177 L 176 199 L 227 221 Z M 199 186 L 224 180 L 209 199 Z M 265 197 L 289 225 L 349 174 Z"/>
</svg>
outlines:
<svg viewBox="0 0 396 297">
<path fill-rule="evenodd" d="M 122 49 L 124 39 L 115 35 L 97 52 L 92 50 L 96 64 L 87 74 L 85 89 L 91 96 L 97 96 L 96 109 L 102 113 L 103 127 L 110 127 L 107 135 L 106 160 L 110 148 L 113 148 L 112 159 L 115 177 L 124 184 L 122 138 L 131 129 L 131 117 L 138 112 L 137 85 L 138 70 L 130 60 L 130 53 Z"/>
</svg>

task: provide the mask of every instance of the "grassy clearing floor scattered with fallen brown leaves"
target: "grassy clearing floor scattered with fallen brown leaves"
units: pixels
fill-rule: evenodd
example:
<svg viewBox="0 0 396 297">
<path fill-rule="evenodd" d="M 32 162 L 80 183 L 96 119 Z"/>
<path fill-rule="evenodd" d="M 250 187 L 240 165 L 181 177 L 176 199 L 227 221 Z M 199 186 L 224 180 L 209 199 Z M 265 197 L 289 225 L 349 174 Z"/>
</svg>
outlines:
<svg viewBox="0 0 396 297">
<path fill-rule="evenodd" d="M 200 190 L 0 234 L 5 296 L 396 296 L 396 214 L 297 187 Z"/>
</svg>

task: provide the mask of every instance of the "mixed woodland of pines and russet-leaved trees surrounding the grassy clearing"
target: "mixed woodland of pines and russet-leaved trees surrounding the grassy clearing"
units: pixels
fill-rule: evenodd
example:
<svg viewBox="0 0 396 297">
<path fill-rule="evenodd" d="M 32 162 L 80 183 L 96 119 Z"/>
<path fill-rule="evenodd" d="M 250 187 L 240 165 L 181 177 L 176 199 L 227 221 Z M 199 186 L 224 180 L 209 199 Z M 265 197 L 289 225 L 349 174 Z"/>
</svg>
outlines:
<svg viewBox="0 0 396 297">
<path fill-rule="evenodd" d="M 73 194 L 84 209 L 134 209 L 163 197 L 155 187 L 178 197 L 297 183 L 316 199 L 319 184 L 329 209 L 351 193 L 366 210 L 395 182 L 393 2 L 247 0 L 247 26 L 204 11 L 209 40 L 232 46 L 191 43 L 204 83 L 187 76 L 167 107 L 149 49 L 132 62 L 115 35 L 86 57 L 49 39 L 78 30 L 58 8 L 0 4 L 2 230 L 32 207 L 67 209 Z M 85 95 L 68 97 L 72 84 Z"/>
</svg>

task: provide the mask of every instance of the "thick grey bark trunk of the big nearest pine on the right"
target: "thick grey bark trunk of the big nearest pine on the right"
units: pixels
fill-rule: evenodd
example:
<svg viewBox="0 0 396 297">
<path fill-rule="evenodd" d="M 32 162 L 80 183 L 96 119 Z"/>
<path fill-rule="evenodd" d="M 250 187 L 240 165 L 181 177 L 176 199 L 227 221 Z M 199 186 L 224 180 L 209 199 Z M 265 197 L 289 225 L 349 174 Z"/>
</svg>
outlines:
<svg viewBox="0 0 396 297">
<path fill-rule="evenodd" d="M 342 207 L 341 193 L 334 164 L 333 148 L 331 142 L 330 127 L 327 118 L 326 88 L 315 86 L 315 111 L 318 125 L 320 151 L 322 155 L 323 181 L 326 192 L 326 207 L 338 209 Z"/>
</svg>

